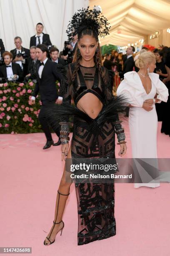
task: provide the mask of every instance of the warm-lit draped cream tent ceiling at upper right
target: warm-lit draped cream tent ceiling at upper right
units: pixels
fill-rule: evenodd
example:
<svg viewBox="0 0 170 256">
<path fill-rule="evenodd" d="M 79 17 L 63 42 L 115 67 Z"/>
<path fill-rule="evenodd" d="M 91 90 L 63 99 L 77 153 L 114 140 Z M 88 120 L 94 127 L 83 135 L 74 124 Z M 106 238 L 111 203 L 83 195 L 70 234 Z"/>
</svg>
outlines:
<svg viewBox="0 0 170 256">
<path fill-rule="evenodd" d="M 90 0 L 90 8 L 100 5 L 110 22 L 110 35 L 101 45 L 125 46 L 170 27 L 170 0 Z"/>
</svg>

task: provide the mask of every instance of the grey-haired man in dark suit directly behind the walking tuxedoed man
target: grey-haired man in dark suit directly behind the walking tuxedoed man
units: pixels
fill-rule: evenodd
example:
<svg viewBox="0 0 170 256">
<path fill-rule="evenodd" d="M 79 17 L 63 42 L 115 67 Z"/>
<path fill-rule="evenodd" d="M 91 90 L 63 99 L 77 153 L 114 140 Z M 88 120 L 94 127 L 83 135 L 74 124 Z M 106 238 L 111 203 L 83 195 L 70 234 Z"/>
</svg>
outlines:
<svg viewBox="0 0 170 256">
<path fill-rule="evenodd" d="M 27 79 L 35 80 L 37 78 L 36 66 L 38 63 L 40 63 L 40 61 L 37 60 L 36 49 L 36 46 L 30 47 L 30 57 L 28 57 L 28 74 L 26 75 Z"/>
</svg>

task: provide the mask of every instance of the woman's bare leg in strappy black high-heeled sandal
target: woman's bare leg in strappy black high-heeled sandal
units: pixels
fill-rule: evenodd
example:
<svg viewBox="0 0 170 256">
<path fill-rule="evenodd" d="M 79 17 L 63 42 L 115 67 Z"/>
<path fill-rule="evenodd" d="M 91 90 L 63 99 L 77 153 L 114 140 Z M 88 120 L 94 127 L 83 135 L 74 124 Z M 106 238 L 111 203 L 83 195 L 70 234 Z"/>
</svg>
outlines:
<svg viewBox="0 0 170 256">
<path fill-rule="evenodd" d="M 71 146 L 68 151 L 67 158 L 71 158 Z M 52 243 L 55 240 L 55 236 L 57 235 L 57 232 L 61 230 L 64 227 L 64 223 L 62 221 L 62 215 L 65 209 L 65 204 L 68 198 L 68 195 L 70 193 L 70 185 L 71 185 L 71 179 L 70 182 L 66 182 L 66 171 L 64 167 L 64 172 L 62 174 L 62 178 L 60 181 L 60 186 L 58 188 L 57 192 L 57 199 L 56 199 L 56 204 L 55 204 L 55 217 L 54 217 L 54 223 L 52 228 L 50 230 L 50 233 L 47 235 L 44 245 L 48 246 L 50 243 Z"/>
</svg>

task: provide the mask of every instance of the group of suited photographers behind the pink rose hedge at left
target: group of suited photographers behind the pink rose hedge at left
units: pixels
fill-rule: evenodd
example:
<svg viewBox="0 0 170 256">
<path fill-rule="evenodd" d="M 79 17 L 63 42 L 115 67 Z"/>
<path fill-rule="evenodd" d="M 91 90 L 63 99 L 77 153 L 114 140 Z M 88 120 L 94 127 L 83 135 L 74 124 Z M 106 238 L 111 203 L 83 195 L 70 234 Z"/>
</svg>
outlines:
<svg viewBox="0 0 170 256">
<path fill-rule="evenodd" d="M 36 34 L 30 38 L 30 49 L 23 47 L 22 38 L 14 38 L 15 49 L 5 51 L 2 39 L 0 39 L 0 81 L 15 80 L 18 82 L 36 79 L 35 69 L 38 64 L 36 46 L 45 44 L 48 47 L 48 59 L 57 64 L 66 65 L 72 62 L 77 46 L 77 36 L 72 42 L 65 41 L 63 51 L 52 45 L 50 36 L 43 33 L 42 23 L 37 23 Z"/>
</svg>

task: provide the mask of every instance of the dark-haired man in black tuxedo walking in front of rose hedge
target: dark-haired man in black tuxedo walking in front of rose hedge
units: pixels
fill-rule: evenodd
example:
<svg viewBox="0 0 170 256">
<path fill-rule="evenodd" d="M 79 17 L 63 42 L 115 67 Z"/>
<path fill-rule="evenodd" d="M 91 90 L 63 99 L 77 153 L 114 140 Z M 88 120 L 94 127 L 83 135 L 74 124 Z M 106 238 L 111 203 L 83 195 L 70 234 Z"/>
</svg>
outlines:
<svg viewBox="0 0 170 256">
<path fill-rule="evenodd" d="M 61 143 L 60 130 L 56 130 L 52 123 L 49 123 L 50 121 L 47 120 L 46 110 L 52 108 L 57 100 L 58 93 L 55 82 L 56 80 L 61 81 L 62 76 L 57 73 L 57 63 L 47 59 L 47 51 L 47 46 L 44 44 L 37 45 L 36 54 L 40 64 L 37 64 L 36 67 L 37 83 L 35 84 L 35 89 L 31 98 L 31 103 L 35 104 L 35 98 L 38 92 L 40 92 L 42 106 L 38 118 L 40 120 L 42 130 L 44 131 L 47 138 L 47 143 L 43 149 L 50 148 L 51 145 L 58 146 Z M 59 137 L 57 143 L 55 144 L 52 140 L 49 124 Z"/>
</svg>

